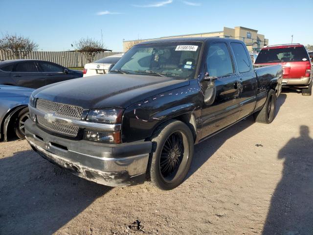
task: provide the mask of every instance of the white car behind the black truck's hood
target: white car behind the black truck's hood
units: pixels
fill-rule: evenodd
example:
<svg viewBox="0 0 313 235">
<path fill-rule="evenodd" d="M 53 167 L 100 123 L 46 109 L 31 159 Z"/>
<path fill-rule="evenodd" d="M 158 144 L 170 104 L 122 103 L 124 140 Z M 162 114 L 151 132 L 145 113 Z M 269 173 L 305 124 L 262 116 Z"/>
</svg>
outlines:
<svg viewBox="0 0 313 235">
<path fill-rule="evenodd" d="M 86 64 L 83 71 L 83 77 L 108 73 L 117 61 L 119 61 L 122 55 L 123 54 L 107 56 L 100 60 Z"/>
</svg>

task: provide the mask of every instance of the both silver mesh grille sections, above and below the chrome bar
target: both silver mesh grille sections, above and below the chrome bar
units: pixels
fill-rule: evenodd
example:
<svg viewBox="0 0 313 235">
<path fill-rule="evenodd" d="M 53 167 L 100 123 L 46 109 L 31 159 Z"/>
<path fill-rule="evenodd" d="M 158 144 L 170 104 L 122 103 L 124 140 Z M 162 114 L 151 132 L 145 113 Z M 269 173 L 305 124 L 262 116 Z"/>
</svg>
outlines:
<svg viewBox="0 0 313 235">
<path fill-rule="evenodd" d="M 57 103 L 45 99 L 37 99 L 36 109 L 45 113 L 54 113 L 57 116 L 79 120 L 83 114 L 84 109 L 79 106 Z M 48 122 L 44 117 L 37 116 L 38 123 L 44 128 L 70 137 L 76 137 L 79 127 L 70 126 L 62 123 Z"/>
</svg>

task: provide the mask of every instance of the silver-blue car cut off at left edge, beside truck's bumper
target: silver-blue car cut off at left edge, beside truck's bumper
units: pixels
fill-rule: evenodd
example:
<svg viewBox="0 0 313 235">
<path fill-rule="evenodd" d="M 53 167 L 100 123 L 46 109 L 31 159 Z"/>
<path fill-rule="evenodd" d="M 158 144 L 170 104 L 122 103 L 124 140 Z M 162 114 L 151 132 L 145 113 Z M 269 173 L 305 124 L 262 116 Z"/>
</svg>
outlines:
<svg viewBox="0 0 313 235">
<path fill-rule="evenodd" d="M 29 118 L 29 96 L 34 89 L 0 85 L 0 140 L 14 133 L 25 138 L 24 123 Z"/>
</svg>

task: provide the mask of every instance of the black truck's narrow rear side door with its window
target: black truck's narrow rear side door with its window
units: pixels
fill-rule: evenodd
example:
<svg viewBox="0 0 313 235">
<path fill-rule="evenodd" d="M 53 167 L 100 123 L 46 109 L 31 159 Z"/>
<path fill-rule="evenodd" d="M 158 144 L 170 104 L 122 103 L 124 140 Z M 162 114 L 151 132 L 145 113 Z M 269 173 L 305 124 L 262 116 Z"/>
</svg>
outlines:
<svg viewBox="0 0 313 235">
<path fill-rule="evenodd" d="M 240 119 L 251 114 L 255 108 L 257 78 L 248 57 L 246 46 L 241 43 L 230 43 L 230 47 L 234 53 L 241 83 Z"/>
</svg>

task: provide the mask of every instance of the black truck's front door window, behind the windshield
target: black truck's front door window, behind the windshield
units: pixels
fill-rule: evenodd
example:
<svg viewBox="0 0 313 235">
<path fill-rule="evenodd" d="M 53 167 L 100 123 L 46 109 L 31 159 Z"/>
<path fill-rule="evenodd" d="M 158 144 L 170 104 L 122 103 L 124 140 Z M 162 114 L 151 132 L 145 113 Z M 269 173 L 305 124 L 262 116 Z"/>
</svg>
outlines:
<svg viewBox="0 0 313 235">
<path fill-rule="evenodd" d="M 230 54 L 224 43 L 215 43 L 210 46 L 207 58 L 206 68 L 210 76 L 220 77 L 234 73 Z"/>
</svg>

